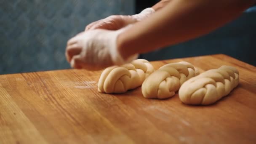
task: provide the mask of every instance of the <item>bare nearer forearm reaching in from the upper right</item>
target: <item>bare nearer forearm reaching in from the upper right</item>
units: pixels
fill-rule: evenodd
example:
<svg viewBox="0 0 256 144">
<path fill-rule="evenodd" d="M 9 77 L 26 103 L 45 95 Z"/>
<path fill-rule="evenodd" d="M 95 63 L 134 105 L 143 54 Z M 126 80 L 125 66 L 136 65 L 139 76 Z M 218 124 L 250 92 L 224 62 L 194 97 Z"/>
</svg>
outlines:
<svg viewBox="0 0 256 144">
<path fill-rule="evenodd" d="M 117 45 L 126 58 L 181 43 L 223 26 L 252 4 L 253 0 L 172 0 L 149 19 L 120 34 Z"/>
</svg>

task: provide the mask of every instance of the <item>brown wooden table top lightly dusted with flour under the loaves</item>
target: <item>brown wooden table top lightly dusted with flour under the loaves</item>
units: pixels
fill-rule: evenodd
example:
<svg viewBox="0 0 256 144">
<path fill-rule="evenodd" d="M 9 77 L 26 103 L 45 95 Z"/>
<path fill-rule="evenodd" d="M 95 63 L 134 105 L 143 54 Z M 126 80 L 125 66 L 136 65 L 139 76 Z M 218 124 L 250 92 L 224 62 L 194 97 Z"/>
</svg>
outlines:
<svg viewBox="0 0 256 144">
<path fill-rule="evenodd" d="M 201 72 L 237 67 L 240 85 L 209 106 L 145 99 L 141 88 L 97 91 L 101 72 L 57 70 L 0 75 L 0 144 L 256 144 L 256 67 L 219 54 L 188 61 Z"/>
</svg>

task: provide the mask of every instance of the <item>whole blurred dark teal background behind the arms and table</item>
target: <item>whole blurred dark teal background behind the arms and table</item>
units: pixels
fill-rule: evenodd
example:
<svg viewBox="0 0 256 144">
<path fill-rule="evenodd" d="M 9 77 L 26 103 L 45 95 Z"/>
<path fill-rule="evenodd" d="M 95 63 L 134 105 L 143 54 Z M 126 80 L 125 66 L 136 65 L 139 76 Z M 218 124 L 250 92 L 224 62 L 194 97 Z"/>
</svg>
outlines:
<svg viewBox="0 0 256 144">
<path fill-rule="evenodd" d="M 69 69 L 67 40 L 93 21 L 159 0 L 0 0 L 0 74 Z M 256 66 L 256 7 L 208 35 L 141 54 L 152 60 L 224 53 Z"/>
</svg>

